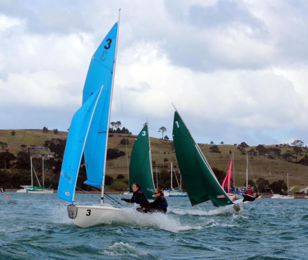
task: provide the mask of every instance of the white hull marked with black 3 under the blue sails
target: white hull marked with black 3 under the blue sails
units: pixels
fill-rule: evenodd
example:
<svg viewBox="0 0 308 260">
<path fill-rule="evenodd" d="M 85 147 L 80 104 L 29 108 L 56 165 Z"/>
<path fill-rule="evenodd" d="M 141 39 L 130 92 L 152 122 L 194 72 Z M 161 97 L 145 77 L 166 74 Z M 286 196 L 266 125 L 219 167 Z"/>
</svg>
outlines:
<svg viewBox="0 0 308 260">
<path fill-rule="evenodd" d="M 108 214 L 115 213 L 120 208 L 114 208 L 110 204 L 96 204 L 91 206 L 74 205 L 67 206 L 67 212 L 70 217 L 72 210 L 76 210 L 75 218 L 72 218 L 75 225 L 81 228 L 96 226 L 102 223 L 102 218 Z M 71 215 L 72 217 L 72 215 Z M 70 218 L 71 218 L 70 217 Z"/>
</svg>

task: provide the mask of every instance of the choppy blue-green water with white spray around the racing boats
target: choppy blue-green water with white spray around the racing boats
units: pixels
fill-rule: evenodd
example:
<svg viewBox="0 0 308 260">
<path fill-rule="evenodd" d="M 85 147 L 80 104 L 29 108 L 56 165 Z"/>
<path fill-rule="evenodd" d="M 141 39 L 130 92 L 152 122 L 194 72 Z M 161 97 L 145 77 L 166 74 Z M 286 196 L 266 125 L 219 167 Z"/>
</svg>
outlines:
<svg viewBox="0 0 308 260">
<path fill-rule="evenodd" d="M 82 229 L 53 195 L 0 194 L 0 259 L 306 259 L 308 200 L 261 198 L 239 215 L 212 204 L 192 208 L 168 199 L 166 215 L 128 206 L 102 225 Z M 120 200 L 119 195 L 111 195 Z M 76 201 L 97 203 L 98 194 Z M 107 202 L 107 201 L 106 201 Z M 77 203 L 76 203 L 77 204 Z"/>
</svg>

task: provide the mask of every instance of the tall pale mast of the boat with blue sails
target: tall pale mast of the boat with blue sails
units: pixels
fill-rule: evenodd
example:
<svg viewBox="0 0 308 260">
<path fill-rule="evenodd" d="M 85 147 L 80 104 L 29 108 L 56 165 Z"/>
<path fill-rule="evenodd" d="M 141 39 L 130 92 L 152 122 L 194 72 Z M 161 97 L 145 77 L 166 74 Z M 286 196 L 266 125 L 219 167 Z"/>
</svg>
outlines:
<svg viewBox="0 0 308 260">
<path fill-rule="evenodd" d="M 117 32 L 116 32 L 116 43 L 115 43 L 115 60 L 114 60 L 113 69 L 112 69 L 111 92 L 110 92 L 109 112 L 108 112 L 108 121 L 107 121 L 107 129 L 106 129 L 106 145 L 105 145 L 105 160 L 104 160 L 104 170 L 103 170 L 102 192 L 101 192 L 101 195 L 100 195 L 100 203 L 101 204 L 104 203 L 104 188 L 105 188 L 105 175 L 106 175 L 106 159 L 107 159 L 107 146 L 108 146 L 108 135 L 109 135 L 109 122 L 110 122 L 110 113 L 111 113 L 113 83 L 114 83 L 114 80 L 115 80 L 115 63 L 116 63 L 116 54 L 117 54 L 117 50 L 118 50 L 120 12 L 121 12 L 121 9 L 119 9 L 118 28 L 117 28 Z"/>
</svg>

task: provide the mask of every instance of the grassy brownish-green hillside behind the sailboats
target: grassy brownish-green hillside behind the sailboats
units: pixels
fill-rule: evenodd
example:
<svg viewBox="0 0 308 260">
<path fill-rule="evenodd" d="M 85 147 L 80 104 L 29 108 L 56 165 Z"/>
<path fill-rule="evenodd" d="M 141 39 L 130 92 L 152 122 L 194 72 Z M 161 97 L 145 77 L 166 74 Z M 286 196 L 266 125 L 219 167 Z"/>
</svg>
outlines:
<svg viewBox="0 0 308 260">
<path fill-rule="evenodd" d="M 0 141 L 8 143 L 8 148 L 11 153 L 15 155 L 20 150 L 20 145 L 36 145 L 43 146 L 43 143 L 46 140 L 51 140 L 51 138 L 67 138 L 67 132 L 59 132 L 58 134 L 53 134 L 52 130 L 49 130 L 48 133 L 43 133 L 42 130 L 14 130 L 16 134 L 12 136 L 10 134 L 12 130 L 0 130 Z M 124 138 L 124 135 L 118 136 L 114 134 L 113 137 L 108 139 L 108 148 L 117 148 L 121 151 L 124 151 L 126 155 L 116 160 L 107 161 L 107 174 L 113 177 L 116 177 L 118 174 L 128 175 L 128 163 L 130 154 L 132 151 L 132 146 L 134 143 L 136 135 L 130 135 L 128 137 L 129 144 L 126 147 L 125 145 L 120 144 L 120 140 Z M 150 138 L 151 141 L 151 150 L 152 150 L 152 161 L 153 163 L 153 172 L 155 174 L 156 167 L 159 172 L 163 165 L 168 165 L 170 168 L 170 163 L 173 162 L 175 170 L 178 169 L 176 162 L 176 155 L 173 150 L 172 141 L 164 141 L 157 138 Z M 199 144 L 202 152 L 205 154 L 206 159 L 208 160 L 211 167 L 216 167 L 219 170 L 227 171 L 229 167 L 229 162 L 231 159 L 231 154 L 229 151 L 234 153 L 235 158 L 235 183 L 237 186 L 242 186 L 245 183 L 245 174 L 246 174 L 246 155 L 241 155 L 240 151 L 237 150 L 237 146 L 234 145 L 218 145 L 219 151 L 221 153 L 210 153 L 209 148 L 212 146 L 210 144 Z M 273 145 L 267 145 L 266 148 L 275 147 Z M 255 147 L 249 147 L 246 150 L 249 150 Z M 288 147 L 278 147 L 282 150 L 282 154 L 287 150 L 292 150 Z M 126 151 L 127 149 L 127 151 Z M 303 156 L 298 157 L 300 160 Z M 167 163 L 164 163 L 164 158 L 168 159 Z M 308 168 L 295 164 L 284 162 L 283 159 L 267 159 L 265 157 L 249 157 L 249 163 L 251 170 L 249 168 L 249 179 L 253 180 L 259 177 L 263 177 L 269 180 L 269 182 L 274 182 L 276 180 L 286 181 L 286 174 L 289 173 L 289 180 L 291 185 L 299 184 L 308 184 Z"/>
</svg>

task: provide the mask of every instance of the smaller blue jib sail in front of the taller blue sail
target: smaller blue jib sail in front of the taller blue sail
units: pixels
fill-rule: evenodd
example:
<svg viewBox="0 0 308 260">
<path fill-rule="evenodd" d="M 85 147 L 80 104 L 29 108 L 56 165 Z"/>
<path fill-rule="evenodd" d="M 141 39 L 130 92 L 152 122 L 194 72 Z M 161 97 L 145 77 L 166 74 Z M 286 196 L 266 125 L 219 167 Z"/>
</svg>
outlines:
<svg viewBox="0 0 308 260">
<path fill-rule="evenodd" d="M 83 144 L 99 92 L 100 89 L 87 99 L 76 111 L 71 121 L 58 186 L 58 197 L 69 202 L 74 200 Z"/>
</svg>

